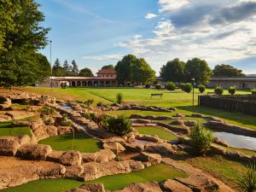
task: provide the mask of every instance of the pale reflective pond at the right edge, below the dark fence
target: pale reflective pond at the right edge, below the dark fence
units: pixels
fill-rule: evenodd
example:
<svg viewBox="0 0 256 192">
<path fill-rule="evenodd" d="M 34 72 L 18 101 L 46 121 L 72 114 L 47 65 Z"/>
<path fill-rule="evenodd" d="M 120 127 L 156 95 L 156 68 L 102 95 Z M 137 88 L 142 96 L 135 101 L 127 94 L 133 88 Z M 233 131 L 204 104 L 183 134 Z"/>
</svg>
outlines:
<svg viewBox="0 0 256 192">
<path fill-rule="evenodd" d="M 228 132 L 214 132 L 214 137 L 223 139 L 233 148 L 245 148 L 256 151 L 256 138 L 236 135 Z"/>
</svg>

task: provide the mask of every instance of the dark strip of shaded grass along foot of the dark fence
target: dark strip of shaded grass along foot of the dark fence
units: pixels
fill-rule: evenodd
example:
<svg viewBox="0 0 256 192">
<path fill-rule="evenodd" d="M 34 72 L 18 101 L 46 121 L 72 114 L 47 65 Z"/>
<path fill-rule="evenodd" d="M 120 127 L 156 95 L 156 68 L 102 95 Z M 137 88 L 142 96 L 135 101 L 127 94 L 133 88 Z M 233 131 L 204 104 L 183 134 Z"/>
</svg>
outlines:
<svg viewBox="0 0 256 192">
<path fill-rule="evenodd" d="M 239 123 L 245 124 L 245 125 L 256 126 L 255 117 L 247 115 L 247 114 L 229 112 L 229 111 L 224 111 L 222 109 L 206 108 L 206 107 L 199 107 L 199 106 L 194 106 L 194 107 L 193 106 L 177 106 L 176 108 L 185 110 L 185 111 L 189 111 L 192 113 L 203 113 L 203 114 L 215 116 L 218 118 L 234 120 L 236 122 L 239 122 Z"/>
</svg>

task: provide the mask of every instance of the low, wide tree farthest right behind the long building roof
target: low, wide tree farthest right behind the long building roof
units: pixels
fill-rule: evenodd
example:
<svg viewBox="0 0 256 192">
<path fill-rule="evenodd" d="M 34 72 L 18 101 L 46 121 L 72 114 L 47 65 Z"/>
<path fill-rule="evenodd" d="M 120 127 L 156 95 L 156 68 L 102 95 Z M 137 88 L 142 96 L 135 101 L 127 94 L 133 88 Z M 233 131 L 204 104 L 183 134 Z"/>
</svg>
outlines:
<svg viewBox="0 0 256 192">
<path fill-rule="evenodd" d="M 213 69 L 214 77 L 245 77 L 246 75 L 242 73 L 241 69 L 237 69 L 230 65 L 217 65 Z"/>
</svg>

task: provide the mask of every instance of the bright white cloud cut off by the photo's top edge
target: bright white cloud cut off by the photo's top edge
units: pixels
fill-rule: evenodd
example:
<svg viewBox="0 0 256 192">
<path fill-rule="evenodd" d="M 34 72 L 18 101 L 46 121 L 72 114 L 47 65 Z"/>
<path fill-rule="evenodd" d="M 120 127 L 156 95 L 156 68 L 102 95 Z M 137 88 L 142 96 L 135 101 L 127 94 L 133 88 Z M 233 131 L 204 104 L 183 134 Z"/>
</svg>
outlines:
<svg viewBox="0 0 256 192">
<path fill-rule="evenodd" d="M 158 3 L 161 7 L 160 13 L 181 9 L 190 4 L 188 0 L 159 0 Z"/>
</svg>

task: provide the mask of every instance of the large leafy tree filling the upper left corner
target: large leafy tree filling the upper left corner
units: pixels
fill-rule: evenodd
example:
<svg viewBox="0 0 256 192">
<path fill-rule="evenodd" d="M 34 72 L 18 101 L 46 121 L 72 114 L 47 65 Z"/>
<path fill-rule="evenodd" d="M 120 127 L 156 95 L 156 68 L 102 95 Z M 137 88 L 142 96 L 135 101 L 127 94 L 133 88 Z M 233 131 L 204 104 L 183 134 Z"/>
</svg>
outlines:
<svg viewBox="0 0 256 192">
<path fill-rule="evenodd" d="M 40 82 L 49 70 L 38 49 L 47 44 L 49 28 L 33 0 L 0 0 L 0 84 L 22 86 Z"/>
</svg>

